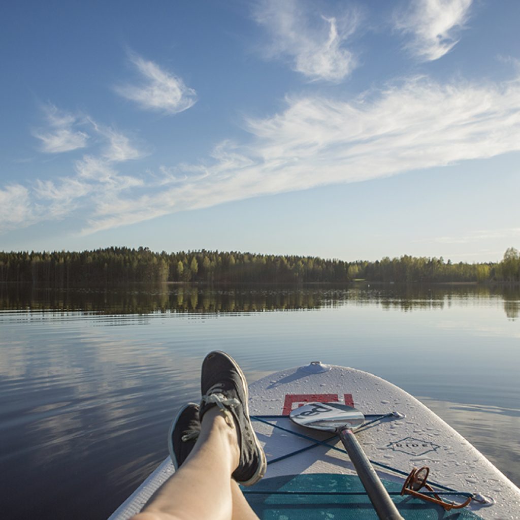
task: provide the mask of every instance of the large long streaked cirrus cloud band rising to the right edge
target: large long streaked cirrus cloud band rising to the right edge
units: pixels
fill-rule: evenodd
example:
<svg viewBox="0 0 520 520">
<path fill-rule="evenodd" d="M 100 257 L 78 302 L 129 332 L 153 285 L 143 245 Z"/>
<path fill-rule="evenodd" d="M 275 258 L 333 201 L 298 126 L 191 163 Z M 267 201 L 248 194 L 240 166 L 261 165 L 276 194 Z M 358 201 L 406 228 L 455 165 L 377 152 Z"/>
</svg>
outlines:
<svg viewBox="0 0 520 520">
<path fill-rule="evenodd" d="M 226 141 L 199 164 L 163 167 L 164 181 L 154 179 L 146 194 L 100 201 L 84 232 L 520 151 L 520 80 L 439 85 L 418 77 L 353 100 L 288 98 L 285 110 L 246 128 L 249 142 Z"/>
</svg>

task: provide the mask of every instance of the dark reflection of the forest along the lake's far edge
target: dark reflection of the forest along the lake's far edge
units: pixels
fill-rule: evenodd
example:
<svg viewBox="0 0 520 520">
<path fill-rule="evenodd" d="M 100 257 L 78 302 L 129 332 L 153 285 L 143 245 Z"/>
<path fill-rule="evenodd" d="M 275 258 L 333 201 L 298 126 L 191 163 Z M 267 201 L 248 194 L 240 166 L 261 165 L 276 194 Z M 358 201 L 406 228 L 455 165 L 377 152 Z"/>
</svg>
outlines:
<svg viewBox="0 0 520 520">
<path fill-rule="evenodd" d="M 43 289 L 0 283 L 0 310 L 62 310 L 95 314 L 233 313 L 381 305 L 412 311 L 443 309 L 453 301 L 501 300 L 508 318 L 520 315 L 520 289 L 489 285 L 363 284 L 348 287 L 138 285 L 111 289 Z"/>
</svg>

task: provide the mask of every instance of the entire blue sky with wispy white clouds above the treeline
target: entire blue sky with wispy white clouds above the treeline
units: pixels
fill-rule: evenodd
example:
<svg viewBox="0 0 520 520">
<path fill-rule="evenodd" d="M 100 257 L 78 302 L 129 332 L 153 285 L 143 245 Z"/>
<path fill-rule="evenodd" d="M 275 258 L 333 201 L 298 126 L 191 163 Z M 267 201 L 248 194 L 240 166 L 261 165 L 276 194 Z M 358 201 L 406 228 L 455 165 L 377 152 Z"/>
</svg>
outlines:
<svg viewBox="0 0 520 520">
<path fill-rule="evenodd" d="M 17 2 L 0 250 L 496 261 L 520 246 L 520 3 Z"/>
</svg>

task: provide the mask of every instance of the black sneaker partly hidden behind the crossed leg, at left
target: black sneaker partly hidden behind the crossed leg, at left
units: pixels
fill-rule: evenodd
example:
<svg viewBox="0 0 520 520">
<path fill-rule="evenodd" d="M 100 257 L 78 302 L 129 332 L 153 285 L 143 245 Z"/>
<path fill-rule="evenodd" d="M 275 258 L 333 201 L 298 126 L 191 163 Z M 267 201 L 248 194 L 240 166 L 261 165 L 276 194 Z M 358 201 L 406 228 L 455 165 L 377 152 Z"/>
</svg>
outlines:
<svg viewBox="0 0 520 520">
<path fill-rule="evenodd" d="M 190 402 L 179 410 L 168 431 L 168 451 L 176 470 L 190 454 L 199 434 L 199 405 Z"/>
</svg>

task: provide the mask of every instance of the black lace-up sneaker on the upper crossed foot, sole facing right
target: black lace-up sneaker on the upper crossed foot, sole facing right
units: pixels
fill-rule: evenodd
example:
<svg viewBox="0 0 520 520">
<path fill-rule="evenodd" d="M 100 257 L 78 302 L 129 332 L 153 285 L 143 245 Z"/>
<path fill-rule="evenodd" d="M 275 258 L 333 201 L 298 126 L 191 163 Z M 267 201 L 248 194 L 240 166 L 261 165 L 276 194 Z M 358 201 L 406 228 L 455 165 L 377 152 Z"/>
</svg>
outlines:
<svg viewBox="0 0 520 520">
<path fill-rule="evenodd" d="M 201 421 L 207 410 L 218 406 L 226 422 L 237 426 L 240 462 L 231 476 L 252 486 L 264 476 L 267 461 L 249 419 L 248 384 L 236 361 L 224 352 L 210 352 L 202 362 L 201 391 Z"/>
</svg>

